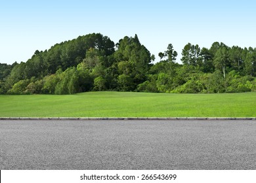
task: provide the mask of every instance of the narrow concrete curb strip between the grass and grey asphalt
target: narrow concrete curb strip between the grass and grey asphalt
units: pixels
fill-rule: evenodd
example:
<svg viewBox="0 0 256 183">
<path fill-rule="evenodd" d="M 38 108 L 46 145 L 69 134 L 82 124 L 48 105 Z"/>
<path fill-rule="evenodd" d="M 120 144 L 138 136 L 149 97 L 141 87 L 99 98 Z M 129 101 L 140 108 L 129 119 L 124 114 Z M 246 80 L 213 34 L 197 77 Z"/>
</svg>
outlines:
<svg viewBox="0 0 256 183">
<path fill-rule="evenodd" d="M 0 120 L 256 120 L 256 117 L 0 117 Z"/>
</svg>

